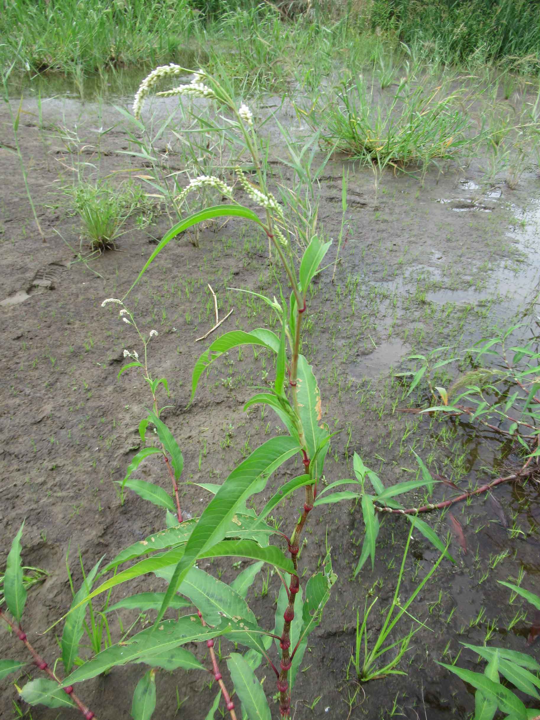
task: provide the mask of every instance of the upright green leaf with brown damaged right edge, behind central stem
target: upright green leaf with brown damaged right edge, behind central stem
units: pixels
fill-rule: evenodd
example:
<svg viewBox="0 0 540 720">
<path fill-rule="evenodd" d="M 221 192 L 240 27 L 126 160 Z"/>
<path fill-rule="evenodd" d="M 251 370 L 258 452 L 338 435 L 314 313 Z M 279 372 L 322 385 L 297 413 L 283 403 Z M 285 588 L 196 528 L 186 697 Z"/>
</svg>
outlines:
<svg viewBox="0 0 540 720">
<path fill-rule="evenodd" d="M 320 404 L 320 390 L 312 366 L 303 355 L 298 356 L 297 399 L 300 406 L 300 419 L 304 428 L 307 454 L 310 460 L 313 460 L 320 442 L 328 433 L 319 427 L 323 414 Z M 313 460 L 315 467 L 310 467 L 311 477 L 318 478 L 323 474 L 325 454 L 325 452 L 320 452 Z"/>
</svg>

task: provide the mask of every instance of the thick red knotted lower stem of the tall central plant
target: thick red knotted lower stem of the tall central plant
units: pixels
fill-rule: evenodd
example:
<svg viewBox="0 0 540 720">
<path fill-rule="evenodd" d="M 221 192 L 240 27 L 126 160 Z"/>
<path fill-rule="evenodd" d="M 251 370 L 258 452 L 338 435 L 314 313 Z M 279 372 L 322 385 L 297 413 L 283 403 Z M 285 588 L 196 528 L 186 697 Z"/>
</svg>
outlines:
<svg viewBox="0 0 540 720">
<path fill-rule="evenodd" d="M 302 450 L 302 453 L 304 454 L 303 462 L 306 468 L 306 472 L 309 472 L 310 459 L 307 457 L 305 451 Z M 294 533 L 292 534 L 291 541 L 289 542 L 289 552 L 291 554 L 294 570 L 298 569 L 297 558 L 298 552 L 300 550 L 300 536 L 302 534 L 302 529 L 305 525 L 305 521 L 307 520 L 307 516 L 313 509 L 313 503 L 315 502 L 315 497 L 317 495 L 317 486 L 307 485 L 305 492 L 306 501 L 304 504 L 304 512 L 302 513 L 302 516 L 297 522 L 297 525 L 294 528 Z M 279 690 L 279 713 L 282 717 L 289 717 L 291 711 L 291 696 L 289 693 L 289 681 L 287 680 L 287 677 L 289 675 L 289 670 L 291 669 L 292 658 L 294 657 L 294 652 L 290 652 L 291 623 L 294 620 L 294 600 L 296 599 L 299 590 L 300 577 L 298 577 L 298 575 L 291 575 L 291 582 L 288 591 L 289 603 L 287 604 L 287 608 L 283 613 L 283 633 L 282 638 L 279 641 L 279 647 L 282 649 L 282 660 L 280 662 L 281 672 L 279 673 L 279 678 L 277 680 L 277 689 Z"/>
</svg>

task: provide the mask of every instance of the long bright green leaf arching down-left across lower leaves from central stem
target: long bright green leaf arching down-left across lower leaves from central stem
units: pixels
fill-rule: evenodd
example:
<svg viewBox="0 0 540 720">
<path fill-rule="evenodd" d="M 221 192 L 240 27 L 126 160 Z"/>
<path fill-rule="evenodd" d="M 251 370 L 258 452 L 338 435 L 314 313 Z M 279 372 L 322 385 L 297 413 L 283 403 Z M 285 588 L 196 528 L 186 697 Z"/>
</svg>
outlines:
<svg viewBox="0 0 540 720">
<path fill-rule="evenodd" d="M 253 493 L 261 492 L 266 486 L 269 475 L 299 449 L 294 438 L 287 436 L 271 438 L 230 473 L 204 509 L 186 543 L 184 557 L 176 567 L 163 606 L 158 613 L 158 621 L 166 611 L 167 600 L 176 594 L 180 583 L 197 557 L 201 557 L 205 550 L 223 539 L 225 528 L 240 505 Z"/>
</svg>

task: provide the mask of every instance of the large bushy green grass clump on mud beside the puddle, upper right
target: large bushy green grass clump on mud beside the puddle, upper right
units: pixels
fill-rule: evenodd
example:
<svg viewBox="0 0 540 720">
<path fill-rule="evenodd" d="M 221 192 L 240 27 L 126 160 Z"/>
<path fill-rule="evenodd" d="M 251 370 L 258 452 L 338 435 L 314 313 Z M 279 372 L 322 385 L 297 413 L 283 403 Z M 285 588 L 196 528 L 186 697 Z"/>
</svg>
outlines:
<svg viewBox="0 0 540 720">
<path fill-rule="evenodd" d="M 468 145 L 469 119 L 456 107 L 456 94 L 441 87 L 426 92 L 402 81 L 390 98 L 373 102 L 362 78 L 330 95 L 322 109 L 308 114 L 324 127 L 323 142 L 351 158 L 405 168 L 453 158 Z"/>
</svg>

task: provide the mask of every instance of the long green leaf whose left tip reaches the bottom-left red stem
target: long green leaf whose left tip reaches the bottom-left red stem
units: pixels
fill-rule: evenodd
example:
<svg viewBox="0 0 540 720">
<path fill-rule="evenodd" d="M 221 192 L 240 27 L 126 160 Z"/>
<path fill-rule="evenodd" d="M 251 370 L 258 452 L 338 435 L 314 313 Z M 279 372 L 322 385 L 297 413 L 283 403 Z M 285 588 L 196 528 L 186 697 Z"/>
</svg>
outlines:
<svg viewBox="0 0 540 720">
<path fill-rule="evenodd" d="M 62 687 L 66 688 L 73 683 L 82 683 L 84 680 L 95 678 L 96 675 L 107 672 L 115 665 L 125 665 L 138 659 L 144 660 L 146 655 L 151 657 L 158 652 L 173 650 L 189 642 L 210 640 L 222 635 L 224 631 L 226 629 L 220 627 L 203 627 L 197 615 L 184 615 L 179 620 L 164 620 L 157 627 L 147 628 L 125 642 L 102 650 L 68 675 L 63 680 Z"/>
</svg>

